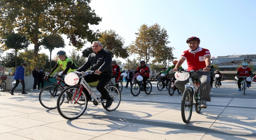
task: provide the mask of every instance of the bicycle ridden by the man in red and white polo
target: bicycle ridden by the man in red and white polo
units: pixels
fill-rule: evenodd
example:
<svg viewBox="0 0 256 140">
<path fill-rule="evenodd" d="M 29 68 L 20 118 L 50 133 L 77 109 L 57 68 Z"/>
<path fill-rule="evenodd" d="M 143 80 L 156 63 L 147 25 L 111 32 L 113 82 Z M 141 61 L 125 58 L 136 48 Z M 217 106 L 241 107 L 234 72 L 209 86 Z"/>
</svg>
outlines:
<svg viewBox="0 0 256 140">
<path fill-rule="evenodd" d="M 187 80 L 189 78 L 189 85 L 185 87 L 181 100 L 181 116 L 186 124 L 190 122 L 194 105 L 196 113 L 201 112 L 202 87 L 200 80 L 195 76 L 194 81 L 192 81 L 193 72 L 206 72 L 206 70 L 190 70 L 189 72 L 180 70 L 175 73 L 180 77 L 179 79 L 177 78 L 178 80 Z M 193 95 L 195 102 L 193 102 Z"/>
</svg>

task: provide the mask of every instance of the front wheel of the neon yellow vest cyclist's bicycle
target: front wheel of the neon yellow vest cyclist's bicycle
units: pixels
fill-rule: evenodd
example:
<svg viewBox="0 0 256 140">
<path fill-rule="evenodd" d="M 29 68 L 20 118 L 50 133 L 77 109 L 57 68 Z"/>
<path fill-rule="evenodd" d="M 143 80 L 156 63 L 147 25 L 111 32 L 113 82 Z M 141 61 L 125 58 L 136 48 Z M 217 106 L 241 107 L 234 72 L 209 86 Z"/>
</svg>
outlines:
<svg viewBox="0 0 256 140">
<path fill-rule="evenodd" d="M 53 88 L 54 87 L 54 88 Z M 55 89 L 55 91 L 54 91 Z M 57 108 L 57 99 L 59 94 L 62 92 L 62 88 L 58 86 L 58 90 L 55 97 L 52 97 L 52 94 L 56 92 L 56 85 L 48 85 L 42 88 L 42 90 L 39 93 L 39 102 L 40 104 L 47 109 L 55 109 Z M 57 96 L 58 94 L 58 96 Z M 61 104 L 63 103 L 65 99 L 65 96 L 62 97 Z"/>
</svg>

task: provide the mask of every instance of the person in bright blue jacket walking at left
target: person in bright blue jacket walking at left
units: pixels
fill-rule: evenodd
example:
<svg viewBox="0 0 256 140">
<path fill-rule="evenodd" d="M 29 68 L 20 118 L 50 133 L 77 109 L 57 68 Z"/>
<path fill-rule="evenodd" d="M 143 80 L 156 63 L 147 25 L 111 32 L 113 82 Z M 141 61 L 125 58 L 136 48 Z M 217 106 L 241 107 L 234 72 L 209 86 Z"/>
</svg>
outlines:
<svg viewBox="0 0 256 140">
<path fill-rule="evenodd" d="M 15 90 L 15 88 L 18 86 L 18 84 L 21 82 L 22 84 L 22 92 L 21 94 L 28 94 L 27 92 L 25 92 L 25 82 L 24 82 L 24 72 L 25 72 L 25 68 L 26 68 L 26 63 L 22 63 L 21 66 L 18 66 L 15 70 L 15 74 L 14 74 L 14 78 L 16 80 L 16 83 L 14 85 L 14 87 L 12 88 L 12 90 L 10 91 L 11 95 L 13 94 L 13 91 Z"/>
</svg>

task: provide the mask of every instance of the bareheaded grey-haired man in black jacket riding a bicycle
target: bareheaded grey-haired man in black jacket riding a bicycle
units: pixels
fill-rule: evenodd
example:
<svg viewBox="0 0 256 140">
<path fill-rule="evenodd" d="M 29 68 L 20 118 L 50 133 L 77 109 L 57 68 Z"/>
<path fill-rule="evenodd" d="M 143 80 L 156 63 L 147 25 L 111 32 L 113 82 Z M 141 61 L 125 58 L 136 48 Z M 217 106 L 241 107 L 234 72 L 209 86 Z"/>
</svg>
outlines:
<svg viewBox="0 0 256 140">
<path fill-rule="evenodd" d="M 102 98 L 104 100 L 107 100 L 105 108 L 108 108 L 111 106 L 114 99 L 109 96 L 108 91 L 104 87 L 112 78 L 112 55 L 110 52 L 102 49 L 102 44 L 98 41 L 92 42 L 92 50 L 94 52 L 89 54 L 88 59 L 84 63 L 84 65 L 78 68 L 76 71 L 81 72 L 87 70 L 88 68 L 90 68 L 90 66 L 92 66 L 91 70 L 95 71 L 96 74 L 88 74 L 84 77 L 84 79 L 88 83 L 96 82 L 97 80 L 99 80 L 97 90 L 102 95 Z M 89 96 L 90 94 L 88 93 L 88 91 L 86 90 L 85 92 L 88 100 L 92 100 L 92 97 Z"/>
</svg>

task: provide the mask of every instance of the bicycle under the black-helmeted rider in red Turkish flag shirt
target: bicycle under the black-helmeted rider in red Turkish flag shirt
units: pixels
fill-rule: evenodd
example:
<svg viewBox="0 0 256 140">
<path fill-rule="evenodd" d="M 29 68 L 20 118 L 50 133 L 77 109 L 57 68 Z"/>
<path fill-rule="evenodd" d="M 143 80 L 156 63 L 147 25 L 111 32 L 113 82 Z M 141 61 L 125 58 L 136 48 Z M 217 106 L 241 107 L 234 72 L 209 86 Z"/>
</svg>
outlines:
<svg viewBox="0 0 256 140">
<path fill-rule="evenodd" d="M 137 76 L 137 75 L 134 76 L 134 82 L 132 83 L 132 86 L 131 86 L 131 94 L 133 96 L 138 96 L 140 94 L 140 91 L 144 90 L 142 80 L 143 80 L 142 76 L 140 76 L 140 75 L 139 76 Z M 149 81 L 147 81 L 146 84 L 147 84 L 147 86 L 146 86 L 146 89 L 145 89 L 145 93 L 150 94 L 151 91 L 152 91 L 152 84 Z"/>
</svg>

